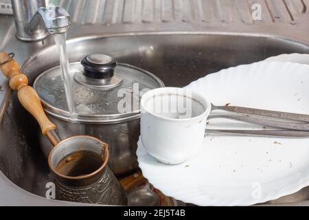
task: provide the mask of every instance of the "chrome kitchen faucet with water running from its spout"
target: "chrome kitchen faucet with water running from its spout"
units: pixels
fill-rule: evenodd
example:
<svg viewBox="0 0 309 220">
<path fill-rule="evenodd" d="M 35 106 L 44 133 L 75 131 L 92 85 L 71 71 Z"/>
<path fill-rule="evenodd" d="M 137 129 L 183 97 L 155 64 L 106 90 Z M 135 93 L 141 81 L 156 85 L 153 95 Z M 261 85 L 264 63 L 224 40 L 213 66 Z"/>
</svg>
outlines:
<svg viewBox="0 0 309 220">
<path fill-rule="evenodd" d="M 21 41 L 39 41 L 49 34 L 67 32 L 69 13 L 58 6 L 46 6 L 45 0 L 12 0 L 16 37 Z"/>
</svg>

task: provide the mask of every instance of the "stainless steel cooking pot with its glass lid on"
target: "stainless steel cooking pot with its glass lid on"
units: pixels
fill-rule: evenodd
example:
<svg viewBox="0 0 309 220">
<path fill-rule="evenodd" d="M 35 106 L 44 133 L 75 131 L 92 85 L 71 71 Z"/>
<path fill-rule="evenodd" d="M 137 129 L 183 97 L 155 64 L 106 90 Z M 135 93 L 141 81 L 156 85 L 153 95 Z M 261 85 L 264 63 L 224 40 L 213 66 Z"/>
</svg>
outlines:
<svg viewBox="0 0 309 220">
<path fill-rule="evenodd" d="M 70 115 L 60 67 L 43 72 L 34 82 L 50 120 L 62 140 L 74 135 L 104 137 L 108 143 L 108 166 L 115 175 L 138 168 L 136 150 L 139 139 L 139 100 L 150 89 L 164 87 L 150 72 L 117 63 L 104 54 L 91 54 L 71 63 L 72 97 L 75 113 Z M 41 148 L 47 157 L 52 144 L 44 135 Z"/>
</svg>

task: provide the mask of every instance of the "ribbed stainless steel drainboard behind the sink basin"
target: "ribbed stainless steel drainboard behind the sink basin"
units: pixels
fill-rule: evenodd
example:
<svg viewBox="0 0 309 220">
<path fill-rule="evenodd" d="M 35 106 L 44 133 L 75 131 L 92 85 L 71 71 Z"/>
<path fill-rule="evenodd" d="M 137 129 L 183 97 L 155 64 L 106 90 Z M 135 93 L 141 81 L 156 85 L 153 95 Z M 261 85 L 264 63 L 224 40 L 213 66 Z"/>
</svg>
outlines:
<svg viewBox="0 0 309 220">
<path fill-rule="evenodd" d="M 307 11 L 307 0 L 49 0 L 67 8 L 74 23 L 285 23 L 296 24 Z M 252 5 L 262 9 L 253 21 Z"/>
</svg>

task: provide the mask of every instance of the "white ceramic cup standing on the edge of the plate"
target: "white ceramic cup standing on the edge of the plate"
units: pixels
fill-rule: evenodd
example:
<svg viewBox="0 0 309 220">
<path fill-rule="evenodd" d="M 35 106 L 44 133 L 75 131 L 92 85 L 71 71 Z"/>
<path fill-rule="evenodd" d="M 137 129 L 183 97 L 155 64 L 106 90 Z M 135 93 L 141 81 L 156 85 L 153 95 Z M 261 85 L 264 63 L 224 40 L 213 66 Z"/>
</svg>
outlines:
<svg viewBox="0 0 309 220">
<path fill-rule="evenodd" d="M 191 89 L 163 87 L 141 98 L 141 142 L 165 164 L 180 164 L 198 153 L 211 104 Z"/>
</svg>

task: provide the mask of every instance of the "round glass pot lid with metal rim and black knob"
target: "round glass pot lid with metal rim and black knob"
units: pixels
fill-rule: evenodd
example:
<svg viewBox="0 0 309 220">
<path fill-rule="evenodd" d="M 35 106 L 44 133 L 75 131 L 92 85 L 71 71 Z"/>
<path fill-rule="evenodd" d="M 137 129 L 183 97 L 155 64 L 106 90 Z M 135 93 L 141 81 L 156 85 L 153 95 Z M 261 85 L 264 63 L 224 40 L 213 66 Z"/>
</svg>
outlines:
<svg viewBox="0 0 309 220">
<path fill-rule="evenodd" d="M 143 69 L 117 64 L 102 54 L 71 63 L 70 72 L 75 105 L 75 118 L 80 122 L 111 123 L 139 118 L 139 101 L 149 89 L 163 87 L 157 76 Z M 43 72 L 34 89 L 47 113 L 70 120 L 60 67 Z"/>
</svg>

